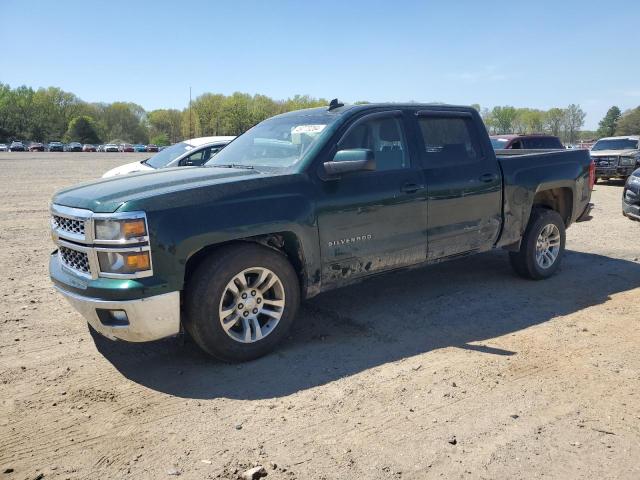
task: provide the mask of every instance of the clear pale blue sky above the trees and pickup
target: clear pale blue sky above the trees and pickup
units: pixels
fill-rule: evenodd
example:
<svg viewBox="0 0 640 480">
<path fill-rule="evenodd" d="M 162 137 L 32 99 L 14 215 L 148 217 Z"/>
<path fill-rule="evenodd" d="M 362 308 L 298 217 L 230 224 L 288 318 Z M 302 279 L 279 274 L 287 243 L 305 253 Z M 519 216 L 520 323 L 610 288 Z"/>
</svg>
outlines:
<svg viewBox="0 0 640 480">
<path fill-rule="evenodd" d="M 12 19 L 19 21 L 14 21 Z M 182 109 L 205 92 L 640 105 L 637 0 L 0 0 L 0 82 Z"/>
</svg>

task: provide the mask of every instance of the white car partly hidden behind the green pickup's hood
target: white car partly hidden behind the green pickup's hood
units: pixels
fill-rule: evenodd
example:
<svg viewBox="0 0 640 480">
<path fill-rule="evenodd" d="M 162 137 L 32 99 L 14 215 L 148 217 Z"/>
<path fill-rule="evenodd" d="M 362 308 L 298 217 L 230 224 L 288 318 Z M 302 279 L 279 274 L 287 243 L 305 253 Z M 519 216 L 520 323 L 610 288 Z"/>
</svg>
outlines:
<svg viewBox="0 0 640 480">
<path fill-rule="evenodd" d="M 154 156 L 141 162 L 127 163 L 111 169 L 102 178 L 150 171 L 157 168 L 204 165 L 234 138 L 236 137 L 200 137 L 184 140 L 159 151 Z"/>
</svg>

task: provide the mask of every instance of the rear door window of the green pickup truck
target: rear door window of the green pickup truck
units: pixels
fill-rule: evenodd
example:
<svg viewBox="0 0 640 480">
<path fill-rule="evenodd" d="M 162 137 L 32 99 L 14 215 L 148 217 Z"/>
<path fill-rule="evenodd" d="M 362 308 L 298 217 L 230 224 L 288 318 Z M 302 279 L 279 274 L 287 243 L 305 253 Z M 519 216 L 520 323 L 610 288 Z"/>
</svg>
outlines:
<svg viewBox="0 0 640 480">
<path fill-rule="evenodd" d="M 424 116 L 418 118 L 418 123 L 428 165 L 446 167 L 480 159 L 480 148 L 470 119 Z"/>
</svg>

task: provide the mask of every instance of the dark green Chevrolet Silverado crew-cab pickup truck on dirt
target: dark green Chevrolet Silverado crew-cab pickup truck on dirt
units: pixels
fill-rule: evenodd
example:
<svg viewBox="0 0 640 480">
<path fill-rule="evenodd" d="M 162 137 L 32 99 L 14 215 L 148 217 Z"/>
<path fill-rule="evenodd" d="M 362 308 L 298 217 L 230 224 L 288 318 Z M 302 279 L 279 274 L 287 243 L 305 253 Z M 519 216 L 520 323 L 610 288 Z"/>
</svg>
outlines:
<svg viewBox="0 0 640 480">
<path fill-rule="evenodd" d="M 469 107 L 334 100 L 259 123 L 205 166 L 58 192 L 50 276 L 108 338 L 184 328 L 243 361 L 302 299 L 371 275 L 494 248 L 524 277 L 552 275 L 594 175 L 587 151 L 496 157 Z"/>
</svg>

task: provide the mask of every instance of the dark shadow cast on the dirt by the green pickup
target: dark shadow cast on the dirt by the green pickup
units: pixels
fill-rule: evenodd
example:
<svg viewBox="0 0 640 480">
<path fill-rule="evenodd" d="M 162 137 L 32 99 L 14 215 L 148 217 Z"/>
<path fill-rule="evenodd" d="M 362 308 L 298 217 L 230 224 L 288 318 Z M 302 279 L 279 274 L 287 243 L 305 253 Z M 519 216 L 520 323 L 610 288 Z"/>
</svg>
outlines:
<svg viewBox="0 0 640 480">
<path fill-rule="evenodd" d="M 115 368 L 148 388 L 183 398 L 274 398 L 445 347 L 517 355 L 482 342 L 639 286 L 640 264 L 631 261 L 568 251 L 556 276 L 535 282 L 516 277 L 504 252 L 491 252 L 318 296 L 276 352 L 249 363 L 219 363 L 177 339 L 93 336 Z"/>
</svg>

